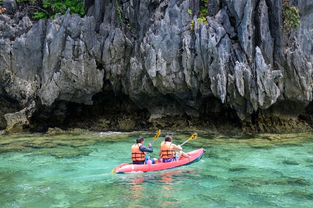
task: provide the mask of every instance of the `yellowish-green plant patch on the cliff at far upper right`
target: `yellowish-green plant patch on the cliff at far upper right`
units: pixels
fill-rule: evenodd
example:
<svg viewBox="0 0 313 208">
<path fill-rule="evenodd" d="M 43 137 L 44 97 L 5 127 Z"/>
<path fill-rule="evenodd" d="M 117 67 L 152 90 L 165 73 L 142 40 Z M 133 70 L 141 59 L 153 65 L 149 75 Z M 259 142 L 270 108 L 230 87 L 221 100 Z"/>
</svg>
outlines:
<svg viewBox="0 0 313 208">
<path fill-rule="evenodd" d="M 290 31 L 300 25 L 300 10 L 294 5 L 289 5 L 289 0 L 282 1 L 282 15 L 283 24 L 281 26 L 283 33 L 290 33 Z"/>
</svg>

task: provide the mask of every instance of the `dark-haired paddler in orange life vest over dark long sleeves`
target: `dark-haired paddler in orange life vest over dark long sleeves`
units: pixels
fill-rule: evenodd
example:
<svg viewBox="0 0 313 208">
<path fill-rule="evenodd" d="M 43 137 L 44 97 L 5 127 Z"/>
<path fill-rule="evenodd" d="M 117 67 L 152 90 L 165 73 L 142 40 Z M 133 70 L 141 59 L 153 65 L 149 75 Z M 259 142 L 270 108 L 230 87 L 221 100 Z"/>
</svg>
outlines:
<svg viewBox="0 0 313 208">
<path fill-rule="evenodd" d="M 143 145 L 143 137 L 138 136 L 136 139 L 136 144 L 131 146 L 131 160 L 132 160 L 132 164 L 139 164 L 139 165 L 143 165 L 146 156 L 146 152 L 152 153 L 153 149 L 152 149 L 152 145 L 149 144 L 149 147 L 145 147 Z M 150 162 L 151 161 L 151 162 Z M 156 161 L 156 158 L 152 158 L 149 159 L 147 161 L 148 163 L 152 163 L 154 164 Z"/>
</svg>

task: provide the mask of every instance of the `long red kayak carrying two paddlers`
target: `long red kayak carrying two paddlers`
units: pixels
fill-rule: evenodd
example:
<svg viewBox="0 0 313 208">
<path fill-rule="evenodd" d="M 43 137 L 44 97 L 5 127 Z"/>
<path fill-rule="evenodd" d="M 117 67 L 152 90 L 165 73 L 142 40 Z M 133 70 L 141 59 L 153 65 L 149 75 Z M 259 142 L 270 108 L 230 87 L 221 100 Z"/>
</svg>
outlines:
<svg viewBox="0 0 313 208">
<path fill-rule="evenodd" d="M 204 149 L 200 148 L 187 152 L 190 158 L 180 157 L 178 161 L 163 163 L 161 160 L 157 160 L 155 164 L 149 165 L 134 165 L 132 163 L 123 163 L 112 170 L 111 173 L 134 173 L 134 172 L 149 172 L 149 171 L 161 171 L 166 169 L 172 169 L 179 166 L 189 165 L 200 160 L 204 154 Z"/>
</svg>

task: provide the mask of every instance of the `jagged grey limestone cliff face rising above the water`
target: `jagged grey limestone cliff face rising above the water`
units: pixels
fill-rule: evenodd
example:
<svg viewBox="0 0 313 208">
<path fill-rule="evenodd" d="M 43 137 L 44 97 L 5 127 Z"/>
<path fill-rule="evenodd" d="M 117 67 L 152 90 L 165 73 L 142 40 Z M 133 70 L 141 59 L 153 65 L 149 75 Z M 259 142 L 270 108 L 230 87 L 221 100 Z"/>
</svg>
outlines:
<svg viewBox="0 0 313 208">
<path fill-rule="evenodd" d="M 88 3 L 82 18 L 68 10 L 35 22 L 3 0 L 7 132 L 209 129 L 220 119 L 243 131 L 311 130 L 311 0 L 290 0 L 301 14 L 290 34 L 277 0 L 209 0 L 208 24 L 197 21 L 202 0 Z"/>
</svg>

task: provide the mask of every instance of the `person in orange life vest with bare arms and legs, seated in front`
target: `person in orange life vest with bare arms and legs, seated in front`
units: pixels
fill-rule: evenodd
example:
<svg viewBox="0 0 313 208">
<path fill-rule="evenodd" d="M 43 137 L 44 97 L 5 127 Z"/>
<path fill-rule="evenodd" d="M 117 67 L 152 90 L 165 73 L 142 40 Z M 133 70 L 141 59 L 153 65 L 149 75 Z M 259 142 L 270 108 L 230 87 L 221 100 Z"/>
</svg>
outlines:
<svg viewBox="0 0 313 208">
<path fill-rule="evenodd" d="M 186 153 L 182 152 L 182 148 L 180 145 L 175 145 L 172 143 L 171 136 L 166 136 L 165 141 L 161 143 L 160 151 L 158 152 L 158 156 L 162 159 L 163 163 L 168 163 L 175 161 L 176 159 L 176 153 L 175 150 L 178 150 L 178 158 L 179 160 L 180 156 L 189 158 L 190 156 Z"/>
</svg>

